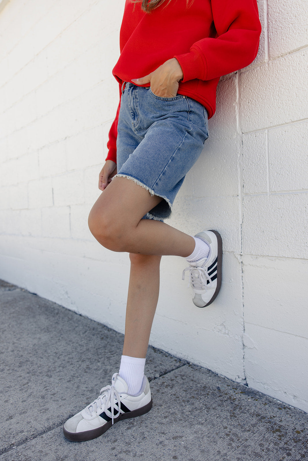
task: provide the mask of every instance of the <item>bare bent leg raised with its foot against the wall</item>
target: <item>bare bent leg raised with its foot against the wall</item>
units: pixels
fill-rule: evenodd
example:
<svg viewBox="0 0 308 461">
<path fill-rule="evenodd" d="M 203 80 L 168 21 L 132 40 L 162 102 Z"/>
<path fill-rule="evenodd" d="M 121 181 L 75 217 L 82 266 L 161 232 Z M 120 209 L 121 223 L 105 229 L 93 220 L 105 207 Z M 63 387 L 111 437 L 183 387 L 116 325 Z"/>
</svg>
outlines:
<svg viewBox="0 0 308 461">
<path fill-rule="evenodd" d="M 89 228 L 98 242 L 113 251 L 136 254 L 193 252 L 193 237 L 152 219 L 141 219 L 162 199 L 125 177 L 115 177 L 92 207 Z"/>
</svg>

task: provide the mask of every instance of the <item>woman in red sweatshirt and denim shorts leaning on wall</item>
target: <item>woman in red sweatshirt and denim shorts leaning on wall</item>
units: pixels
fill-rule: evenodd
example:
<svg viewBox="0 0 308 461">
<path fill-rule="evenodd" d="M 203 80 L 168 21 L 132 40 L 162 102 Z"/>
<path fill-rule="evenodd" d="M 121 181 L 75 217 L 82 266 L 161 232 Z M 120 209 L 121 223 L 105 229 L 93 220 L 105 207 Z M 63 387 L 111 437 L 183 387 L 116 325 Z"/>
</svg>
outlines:
<svg viewBox="0 0 308 461">
<path fill-rule="evenodd" d="M 121 101 L 99 176 L 103 193 L 89 215 L 99 243 L 130 253 L 123 355 L 111 386 L 66 421 L 70 440 L 98 437 L 151 409 L 144 367 L 162 255 L 187 259 L 196 306 L 218 294 L 218 232 L 192 237 L 163 219 L 208 137 L 219 77 L 250 64 L 259 37 L 256 0 L 126 0 L 113 70 Z"/>
</svg>

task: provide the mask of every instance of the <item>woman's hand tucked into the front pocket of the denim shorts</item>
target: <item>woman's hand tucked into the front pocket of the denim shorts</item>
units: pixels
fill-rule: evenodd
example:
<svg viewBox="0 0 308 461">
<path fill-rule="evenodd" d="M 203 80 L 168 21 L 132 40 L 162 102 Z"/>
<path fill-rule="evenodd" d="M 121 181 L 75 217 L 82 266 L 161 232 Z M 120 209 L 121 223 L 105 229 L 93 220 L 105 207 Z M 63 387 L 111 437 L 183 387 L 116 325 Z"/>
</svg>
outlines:
<svg viewBox="0 0 308 461">
<path fill-rule="evenodd" d="M 179 61 L 175 58 L 168 59 L 157 67 L 154 72 L 141 78 L 133 78 L 136 85 L 150 83 L 154 95 L 162 98 L 173 98 L 179 88 L 179 81 L 183 78 L 183 71 Z"/>
</svg>

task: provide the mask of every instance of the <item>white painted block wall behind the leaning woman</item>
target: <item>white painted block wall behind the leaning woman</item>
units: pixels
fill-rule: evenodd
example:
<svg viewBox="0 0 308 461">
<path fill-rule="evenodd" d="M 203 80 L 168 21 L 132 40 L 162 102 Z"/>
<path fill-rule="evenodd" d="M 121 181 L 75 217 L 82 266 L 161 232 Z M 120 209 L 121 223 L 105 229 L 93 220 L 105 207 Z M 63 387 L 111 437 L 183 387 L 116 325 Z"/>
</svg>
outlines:
<svg viewBox="0 0 308 461">
<path fill-rule="evenodd" d="M 221 79 L 169 221 L 221 232 L 221 293 L 194 307 L 185 261 L 164 257 L 150 341 L 308 411 L 307 2 L 258 5 L 258 56 Z M 87 216 L 118 105 L 123 7 L 10 0 L 0 10 L 0 277 L 118 331 L 128 256 L 100 247 Z"/>
</svg>

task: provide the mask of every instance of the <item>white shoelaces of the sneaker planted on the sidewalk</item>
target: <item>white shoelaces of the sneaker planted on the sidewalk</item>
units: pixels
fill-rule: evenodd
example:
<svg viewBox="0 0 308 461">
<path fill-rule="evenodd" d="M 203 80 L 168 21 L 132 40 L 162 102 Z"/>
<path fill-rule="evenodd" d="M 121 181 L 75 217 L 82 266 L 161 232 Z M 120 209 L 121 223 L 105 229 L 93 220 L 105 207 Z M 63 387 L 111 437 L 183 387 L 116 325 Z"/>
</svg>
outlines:
<svg viewBox="0 0 308 461">
<path fill-rule="evenodd" d="M 115 378 L 116 375 L 117 373 L 115 373 L 112 378 Z M 112 383 L 114 382 L 115 382 L 115 379 L 112 380 Z M 110 408 L 111 411 L 109 411 L 108 409 L 109 406 L 111 407 Z M 120 416 L 121 414 L 120 408 L 121 408 L 120 394 L 119 392 L 115 390 L 114 384 L 112 384 L 111 386 L 108 385 L 101 389 L 97 399 L 94 400 L 94 402 L 90 403 L 90 405 L 88 405 L 85 408 L 85 412 L 89 414 L 89 416 L 91 416 L 92 413 L 97 414 L 98 410 L 99 411 L 103 410 L 107 414 L 107 416 L 109 416 L 109 418 L 112 419 L 112 424 L 113 424 L 114 419 Z M 115 414 L 115 410 L 117 411 L 117 414 Z"/>
</svg>

